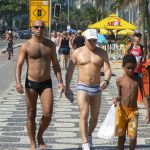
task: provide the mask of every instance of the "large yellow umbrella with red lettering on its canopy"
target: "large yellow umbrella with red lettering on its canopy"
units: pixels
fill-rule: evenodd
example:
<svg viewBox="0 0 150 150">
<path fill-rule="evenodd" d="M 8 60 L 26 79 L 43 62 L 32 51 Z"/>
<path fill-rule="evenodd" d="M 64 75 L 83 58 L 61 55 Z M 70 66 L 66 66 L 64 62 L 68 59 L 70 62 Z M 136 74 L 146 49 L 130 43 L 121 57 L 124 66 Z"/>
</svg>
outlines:
<svg viewBox="0 0 150 150">
<path fill-rule="evenodd" d="M 122 29 L 136 30 L 137 27 L 119 18 L 117 15 L 111 14 L 107 18 L 93 25 L 90 25 L 89 28 L 110 29 L 110 30 L 122 30 Z"/>
</svg>

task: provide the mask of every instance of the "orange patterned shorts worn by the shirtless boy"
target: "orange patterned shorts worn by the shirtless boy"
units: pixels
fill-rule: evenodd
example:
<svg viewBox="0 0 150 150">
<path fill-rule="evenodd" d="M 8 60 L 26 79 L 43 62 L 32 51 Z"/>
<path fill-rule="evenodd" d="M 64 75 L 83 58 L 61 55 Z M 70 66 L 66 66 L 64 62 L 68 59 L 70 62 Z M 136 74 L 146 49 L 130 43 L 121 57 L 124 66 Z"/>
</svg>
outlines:
<svg viewBox="0 0 150 150">
<path fill-rule="evenodd" d="M 121 104 L 117 107 L 116 114 L 116 136 L 126 135 L 131 138 L 137 137 L 138 129 L 138 109 L 124 107 Z"/>
</svg>

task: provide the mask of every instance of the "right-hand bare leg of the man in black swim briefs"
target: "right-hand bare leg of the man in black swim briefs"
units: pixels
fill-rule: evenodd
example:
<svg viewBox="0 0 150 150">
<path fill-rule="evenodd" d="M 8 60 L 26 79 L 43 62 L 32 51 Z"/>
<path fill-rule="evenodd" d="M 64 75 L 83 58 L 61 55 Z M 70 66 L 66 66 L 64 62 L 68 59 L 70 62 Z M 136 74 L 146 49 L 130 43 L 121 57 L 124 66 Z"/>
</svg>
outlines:
<svg viewBox="0 0 150 150">
<path fill-rule="evenodd" d="M 52 112 L 53 112 L 53 92 L 51 88 L 45 89 L 41 96 L 41 104 L 43 110 L 43 116 L 40 121 L 40 127 L 37 134 L 38 144 L 41 148 L 45 147 L 45 143 L 43 140 L 43 133 L 47 129 L 50 124 Z"/>
</svg>

